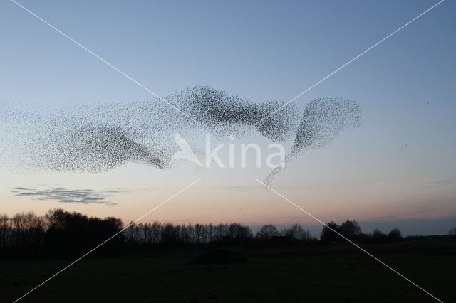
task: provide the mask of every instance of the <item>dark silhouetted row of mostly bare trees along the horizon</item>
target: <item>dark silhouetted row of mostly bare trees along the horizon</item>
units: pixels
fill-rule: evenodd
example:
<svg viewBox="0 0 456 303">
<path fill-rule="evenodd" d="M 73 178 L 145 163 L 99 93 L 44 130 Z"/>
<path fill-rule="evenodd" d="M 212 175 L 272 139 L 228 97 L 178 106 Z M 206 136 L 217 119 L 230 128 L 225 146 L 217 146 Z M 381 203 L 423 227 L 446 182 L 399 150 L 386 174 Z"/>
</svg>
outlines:
<svg viewBox="0 0 456 303">
<path fill-rule="evenodd" d="M 43 216 L 33 212 L 17 213 L 13 217 L 0 214 L 0 257 L 74 257 L 83 255 L 103 241 L 119 233 L 92 255 L 120 256 L 130 252 L 201 248 L 223 245 L 306 245 L 309 243 L 343 242 L 344 237 L 358 242 L 390 242 L 402 239 L 397 228 L 385 234 L 380 230 L 363 233 L 356 220 L 323 227 L 320 239 L 299 224 L 279 230 L 275 225 L 263 225 L 257 233 L 247 225 L 130 223 L 119 218 L 89 217 L 60 208 Z M 120 231 L 122 231 L 120 233 Z"/>
</svg>

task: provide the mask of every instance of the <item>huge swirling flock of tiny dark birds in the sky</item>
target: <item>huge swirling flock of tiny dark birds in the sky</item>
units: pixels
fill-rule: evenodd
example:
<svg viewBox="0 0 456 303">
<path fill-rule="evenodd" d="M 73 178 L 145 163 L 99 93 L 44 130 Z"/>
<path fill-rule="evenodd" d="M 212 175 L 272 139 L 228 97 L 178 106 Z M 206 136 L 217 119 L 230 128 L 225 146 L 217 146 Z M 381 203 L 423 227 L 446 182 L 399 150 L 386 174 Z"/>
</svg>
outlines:
<svg viewBox="0 0 456 303">
<path fill-rule="evenodd" d="M 280 100 L 255 103 L 212 87 L 110 105 L 1 105 L 0 166 L 95 173 L 139 162 L 168 169 L 176 133 L 190 141 L 201 131 L 220 138 L 257 133 L 273 142 L 294 140 L 282 165 L 266 178 L 269 183 L 296 156 L 325 146 L 361 121 L 361 107 L 353 100 L 319 98 L 300 113 Z"/>
</svg>

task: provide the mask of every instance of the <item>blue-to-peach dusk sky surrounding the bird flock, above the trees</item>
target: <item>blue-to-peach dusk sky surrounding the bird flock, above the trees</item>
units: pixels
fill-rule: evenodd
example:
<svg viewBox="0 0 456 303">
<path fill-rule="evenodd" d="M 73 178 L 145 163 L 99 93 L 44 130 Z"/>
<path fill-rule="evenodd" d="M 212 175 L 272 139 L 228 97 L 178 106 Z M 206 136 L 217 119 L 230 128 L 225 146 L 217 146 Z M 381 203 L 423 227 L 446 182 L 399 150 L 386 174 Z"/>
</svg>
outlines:
<svg viewBox="0 0 456 303">
<path fill-rule="evenodd" d="M 160 96 L 207 85 L 266 102 L 290 100 L 436 2 L 20 3 Z M 397 226 L 405 234 L 456 226 L 455 13 L 455 1 L 443 2 L 299 97 L 300 108 L 316 97 L 356 100 L 364 125 L 296 159 L 271 186 L 325 222 L 356 219 L 367 231 Z M 46 107 L 152 97 L 14 2 L 1 1 L 0 102 Z M 126 164 L 103 174 L 0 167 L 0 212 L 61 207 L 127 222 L 202 178 L 145 220 L 315 225 L 253 180 L 267 174 L 253 164 L 167 171 Z M 80 195 L 89 189 L 116 205 L 16 196 L 17 187 Z"/>
</svg>

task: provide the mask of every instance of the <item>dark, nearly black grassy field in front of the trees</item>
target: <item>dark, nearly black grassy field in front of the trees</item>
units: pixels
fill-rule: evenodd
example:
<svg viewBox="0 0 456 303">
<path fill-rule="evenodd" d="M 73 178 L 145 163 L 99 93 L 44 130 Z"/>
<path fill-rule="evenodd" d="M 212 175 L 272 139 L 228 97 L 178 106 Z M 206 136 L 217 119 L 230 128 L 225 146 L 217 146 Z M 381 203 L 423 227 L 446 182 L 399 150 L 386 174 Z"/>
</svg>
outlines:
<svg viewBox="0 0 456 303">
<path fill-rule="evenodd" d="M 380 259 L 443 302 L 456 302 L 454 255 Z M 13 302 L 71 260 L 1 260 L 0 302 Z M 437 302 L 366 255 L 86 259 L 21 302 Z"/>
</svg>

